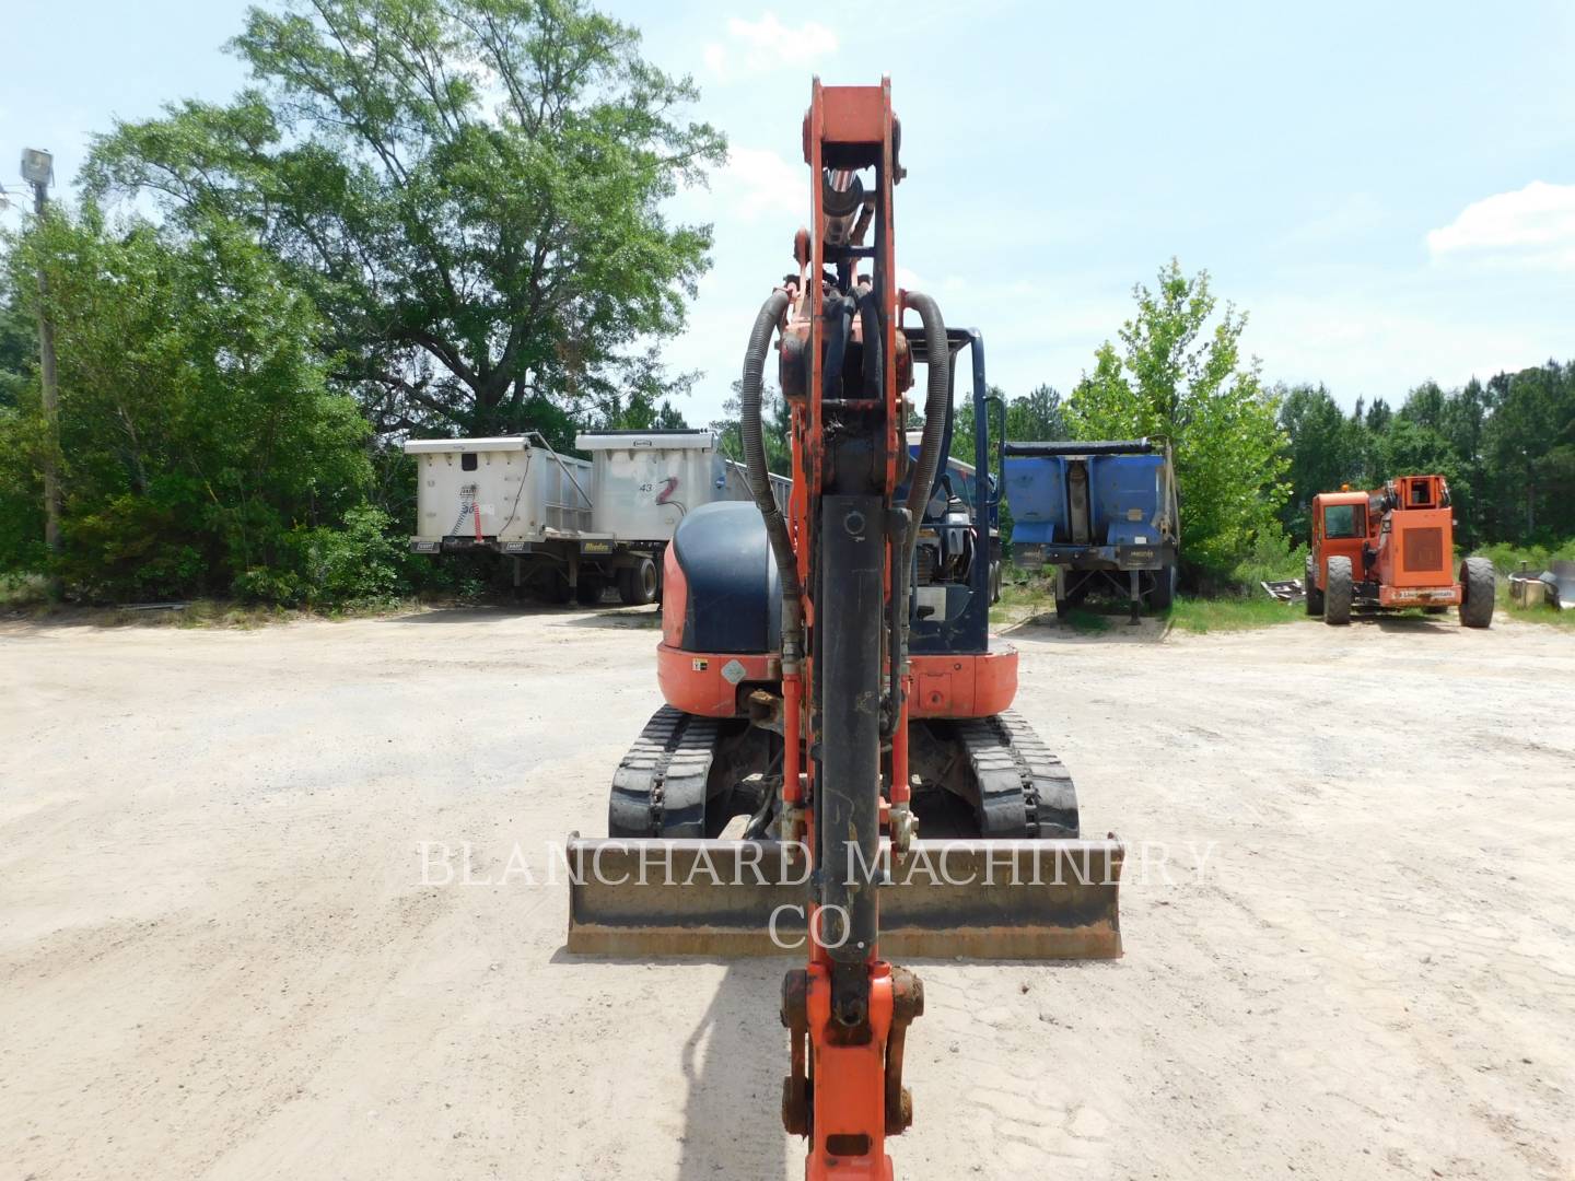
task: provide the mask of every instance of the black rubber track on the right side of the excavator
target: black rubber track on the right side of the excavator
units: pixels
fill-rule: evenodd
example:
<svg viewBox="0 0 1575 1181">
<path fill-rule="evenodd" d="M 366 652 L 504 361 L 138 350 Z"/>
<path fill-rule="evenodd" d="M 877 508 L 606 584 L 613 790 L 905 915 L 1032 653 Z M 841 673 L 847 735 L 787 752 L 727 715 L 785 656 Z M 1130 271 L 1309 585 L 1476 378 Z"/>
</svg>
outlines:
<svg viewBox="0 0 1575 1181">
<path fill-rule="evenodd" d="M 956 726 L 980 789 L 983 836 L 1077 836 L 1073 776 L 1014 710 Z"/>
</svg>

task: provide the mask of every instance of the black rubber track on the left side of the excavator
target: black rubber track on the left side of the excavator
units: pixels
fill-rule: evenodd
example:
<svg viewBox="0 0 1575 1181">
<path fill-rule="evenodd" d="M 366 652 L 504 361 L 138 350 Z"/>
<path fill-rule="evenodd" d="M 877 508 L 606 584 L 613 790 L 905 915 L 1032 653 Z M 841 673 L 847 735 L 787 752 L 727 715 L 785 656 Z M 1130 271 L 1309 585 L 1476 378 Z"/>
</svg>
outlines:
<svg viewBox="0 0 1575 1181">
<path fill-rule="evenodd" d="M 610 836 L 704 836 L 715 718 L 663 705 L 613 773 Z"/>
</svg>

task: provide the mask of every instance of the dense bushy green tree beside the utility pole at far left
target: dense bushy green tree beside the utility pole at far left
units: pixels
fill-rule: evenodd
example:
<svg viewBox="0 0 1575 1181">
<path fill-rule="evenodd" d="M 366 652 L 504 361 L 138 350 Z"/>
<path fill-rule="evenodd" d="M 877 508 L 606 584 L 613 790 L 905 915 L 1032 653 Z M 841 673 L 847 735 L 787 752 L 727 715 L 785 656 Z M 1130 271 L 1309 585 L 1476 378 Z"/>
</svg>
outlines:
<svg viewBox="0 0 1575 1181">
<path fill-rule="evenodd" d="M 326 387 L 310 302 L 219 220 L 175 236 L 58 209 L 8 250 L 24 302 L 36 304 L 39 265 L 60 356 L 68 587 L 307 597 L 307 548 L 362 504 L 370 477 L 367 424 Z M 30 384 L 0 420 L 6 507 L 38 501 L 39 420 Z M 20 539 L 0 553 L 11 567 L 39 557 Z"/>
</svg>

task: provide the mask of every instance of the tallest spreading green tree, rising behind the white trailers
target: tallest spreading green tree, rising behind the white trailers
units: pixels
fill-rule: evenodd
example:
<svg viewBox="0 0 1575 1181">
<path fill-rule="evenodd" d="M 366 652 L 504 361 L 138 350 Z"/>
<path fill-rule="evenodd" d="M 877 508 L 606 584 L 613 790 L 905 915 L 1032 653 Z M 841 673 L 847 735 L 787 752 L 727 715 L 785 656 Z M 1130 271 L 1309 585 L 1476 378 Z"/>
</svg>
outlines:
<svg viewBox="0 0 1575 1181">
<path fill-rule="evenodd" d="M 255 87 L 96 140 L 90 191 L 246 225 L 326 317 L 380 431 L 495 433 L 662 386 L 723 159 L 690 79 L 583 0 L 290 0 L 230 44 Z M 572 428 L 567 431 L 572 435 Z"/>
</svg>

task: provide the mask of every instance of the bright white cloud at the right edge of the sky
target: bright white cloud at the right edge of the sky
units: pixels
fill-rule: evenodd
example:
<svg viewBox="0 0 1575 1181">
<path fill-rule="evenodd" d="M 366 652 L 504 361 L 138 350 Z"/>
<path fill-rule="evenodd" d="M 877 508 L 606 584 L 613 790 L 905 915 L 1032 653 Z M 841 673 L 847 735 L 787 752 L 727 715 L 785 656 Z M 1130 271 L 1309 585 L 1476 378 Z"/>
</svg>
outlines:
<svg viewBox="0 0 1575 1181">
<path fill-rule="evenodd" d="M 1462 255 L 1499 263 L 1575 269 L 1575 184 L 1532 181 L 1473 202 L 1427 235 L 1435 258 Z"/>
</svg>

